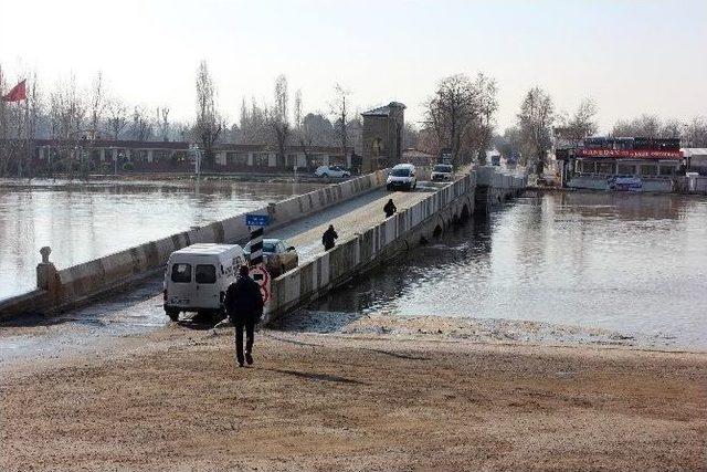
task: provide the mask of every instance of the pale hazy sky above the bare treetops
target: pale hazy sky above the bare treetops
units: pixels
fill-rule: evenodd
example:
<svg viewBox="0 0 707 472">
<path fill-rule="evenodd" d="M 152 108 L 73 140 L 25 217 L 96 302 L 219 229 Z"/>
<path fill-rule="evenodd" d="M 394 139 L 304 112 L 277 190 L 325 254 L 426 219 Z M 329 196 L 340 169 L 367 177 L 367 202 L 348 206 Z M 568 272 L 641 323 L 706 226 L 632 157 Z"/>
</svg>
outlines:
<svg viewBox="0 0 707 472">
<path fill-rule="evenodd" d="M 128 103 L 169 104 L 189 119 L 207 59 L 222 112 L 243 96 L 272 99 L 284 73 L 306 111 L 328 112 L 334 85 L 359 108 L 421 103 L 436 81 L 477 72 L 499 86 L 498 124 L 524 93 L 545 87 L 558 109 L 584 96 L 602 128 L 621 117 L 707 115 L 707 0 L 695 1 L 265 1 L 0 0 L 0 63 L 12 78 L 103 71 Z"/>
</svg>

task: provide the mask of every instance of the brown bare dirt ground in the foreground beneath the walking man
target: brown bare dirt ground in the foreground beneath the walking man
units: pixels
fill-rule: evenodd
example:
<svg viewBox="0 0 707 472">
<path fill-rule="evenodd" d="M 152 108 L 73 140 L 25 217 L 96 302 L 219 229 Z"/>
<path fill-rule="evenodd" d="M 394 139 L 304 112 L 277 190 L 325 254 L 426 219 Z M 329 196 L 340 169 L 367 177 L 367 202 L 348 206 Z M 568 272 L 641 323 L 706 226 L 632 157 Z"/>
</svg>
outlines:
<svg viewBox="0 0 707 472">
<path fill-rule="evenodd" d="M 700 470 L 707 354 L 172 325 L 9 363 L 0 469 Z"/>
</svg>

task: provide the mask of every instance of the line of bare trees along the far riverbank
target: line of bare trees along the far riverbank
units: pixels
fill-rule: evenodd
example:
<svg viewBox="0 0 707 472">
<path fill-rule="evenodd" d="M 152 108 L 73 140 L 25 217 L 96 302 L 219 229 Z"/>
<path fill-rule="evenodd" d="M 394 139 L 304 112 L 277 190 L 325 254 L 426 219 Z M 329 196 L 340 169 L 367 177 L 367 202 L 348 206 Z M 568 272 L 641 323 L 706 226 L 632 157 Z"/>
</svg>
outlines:
<svg viewBox="0 0 707 472">
<path fill-rule="evenodd" d="M 287 146 L 298 146 L 305 155 L 314 146 L 337 146 L 342 154 L 350 149 L 362 154 L 360 114 L 351 103 L 350 91 L 340 84 L 331 90 L 327 112 L 305 112 L 302 91 L 291 93 L 287 77 L 279 75 L 271 101 L 244 98 L 238 123 L 228 123 L 205 61 L 200 62 L 196 74 L 193 122 L 172 120 L 167 104 L 154 108 L 127 105 L 107 90 L 101 72 L 87 88 L 78 87 L 73 75 L 46 90 L 36 74 L 27 74 L 27 81 L 24 103 L 0 101 L 0 176 L 31 175 L 29 143 L 39 138 L 67 144 L 60 153 L 70 172 L 77 160 L 72 143 L 94 139 L 192 141 L 203 150 L 205 166 L 213 165 L 213 150 L 220 143 L 268 144 L 277 150 L 277 165 L 282 167 Z M 0 95 L 8 92 L 9 82 L 0 65 Z M 571 114 L 558 112 L 552 97 L 534 86 L 519 104 L 515 125 L 500 132 L 496 123 L 497 93 L 496 81 L 484 73 L 442 78 L 422 104 L 423 120 L 418 126 L 405 123 L 403 148 L 414 147 L 435 156 L 445 151 L 457 165 L 485 164 L 487 151 L 496 148 L 506 158 L 535 166 L 541 172 L 558 132 L 564 140 L 579 143 L 598 130 L 594 101 L 585 98 Z M 707 147 L 707 119 L 663 120 L 642 115 L 619 120 L 612 134 L 680 137 L 684 145 Z"/>
</svg>

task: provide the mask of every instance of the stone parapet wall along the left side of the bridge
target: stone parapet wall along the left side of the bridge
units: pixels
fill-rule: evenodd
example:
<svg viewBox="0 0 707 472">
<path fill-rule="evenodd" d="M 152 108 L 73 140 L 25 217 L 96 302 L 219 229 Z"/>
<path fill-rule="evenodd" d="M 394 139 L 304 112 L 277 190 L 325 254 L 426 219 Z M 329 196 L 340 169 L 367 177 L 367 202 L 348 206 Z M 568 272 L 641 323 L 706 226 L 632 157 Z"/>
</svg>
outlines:
<svg viewBox="0 0 707 472">
<path fill-rule="evenodd" d="M 386 183 L 380 170 L 340 183 L 292 197 L 253 213 L 267 213 L 271 229 L 321 211 Z M 83 264 L 56 271 L 53 264 L 38 266 L 38 290 L 0 302 L 0 319 L 24 313 L 53 313 L 84 304 L 97 296 L 123 290 L 163 270 L 169 255 L 198 242 L 245 242 L 250 237 L 245 214 L 172 234 Z"/>
</svg>

